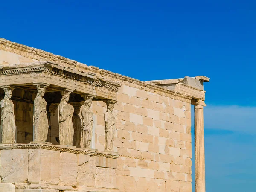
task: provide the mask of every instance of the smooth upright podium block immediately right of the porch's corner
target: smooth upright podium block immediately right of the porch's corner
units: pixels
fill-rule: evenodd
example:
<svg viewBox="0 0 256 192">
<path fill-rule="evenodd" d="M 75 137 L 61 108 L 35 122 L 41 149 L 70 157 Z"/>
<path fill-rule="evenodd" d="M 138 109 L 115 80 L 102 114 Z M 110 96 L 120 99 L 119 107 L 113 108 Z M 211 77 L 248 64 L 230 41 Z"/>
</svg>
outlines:
<svg viewBox="0 0 256 192">
<path fill-rule="evenodd" d="M 60 151 L 41 149 L 41 183 L 59 183 Z"/>
</svg>

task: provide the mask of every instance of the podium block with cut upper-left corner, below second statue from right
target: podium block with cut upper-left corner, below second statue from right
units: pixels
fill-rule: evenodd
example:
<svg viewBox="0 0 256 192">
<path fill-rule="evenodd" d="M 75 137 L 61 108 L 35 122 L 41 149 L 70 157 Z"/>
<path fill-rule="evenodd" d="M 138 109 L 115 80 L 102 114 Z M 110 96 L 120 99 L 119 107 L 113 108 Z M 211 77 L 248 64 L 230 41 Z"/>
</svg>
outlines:
<svg viewBox="0 0 256 192">
<path fill-rule="evenodd" d="M 89 161 L 78 167 L 77 185 L 95 187 L 96 158 L 90 157 Z"/>
</svg>

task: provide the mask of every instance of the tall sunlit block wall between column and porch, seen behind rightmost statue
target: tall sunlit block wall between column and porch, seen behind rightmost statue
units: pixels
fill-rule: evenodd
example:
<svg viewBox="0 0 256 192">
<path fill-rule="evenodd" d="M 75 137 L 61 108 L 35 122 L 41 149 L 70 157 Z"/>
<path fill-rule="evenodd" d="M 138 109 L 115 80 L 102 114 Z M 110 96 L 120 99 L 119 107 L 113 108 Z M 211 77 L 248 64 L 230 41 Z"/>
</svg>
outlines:
<svg viewBox="0 0 256 192">
<path fill-rule="evenodd" d="M 120 192 L 191 192 L 191 104 L 127 85 L 115 104 Z M 93 102 L 95 146 L 104 151 L 104 102 Z"/>
</svg>

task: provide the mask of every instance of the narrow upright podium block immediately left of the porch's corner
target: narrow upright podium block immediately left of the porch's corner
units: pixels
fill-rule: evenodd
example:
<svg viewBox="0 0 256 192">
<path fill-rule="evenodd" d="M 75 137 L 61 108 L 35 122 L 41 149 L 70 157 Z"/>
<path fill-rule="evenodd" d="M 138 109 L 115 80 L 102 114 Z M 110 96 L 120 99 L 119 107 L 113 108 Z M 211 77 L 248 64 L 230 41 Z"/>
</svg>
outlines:
<svg viewBox="0 0 256 192">
<path fill-rule="evenodd" d="M 41 181 L 41 149 L 29 149 L 29 183 Z"/>
</svg>

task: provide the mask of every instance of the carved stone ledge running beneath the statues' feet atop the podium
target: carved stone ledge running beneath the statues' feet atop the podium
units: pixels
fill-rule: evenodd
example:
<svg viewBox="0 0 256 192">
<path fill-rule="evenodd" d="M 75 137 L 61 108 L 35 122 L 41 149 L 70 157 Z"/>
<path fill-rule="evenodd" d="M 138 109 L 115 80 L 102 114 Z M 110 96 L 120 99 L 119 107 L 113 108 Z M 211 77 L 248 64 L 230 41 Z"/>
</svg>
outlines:
<svg viewBox="0 0 256 192">
<path fill-rule="evenodd" d="M 73 147 L 66 147 L 60 145 L 51 145 L 47 143 L 28 143 L 28 144 L 0 144 L 0 150 L 5 149 L 48 149 L 53 151 L 61 151 L 61 152 L 68 152 L 68 153 L 75 153 L 75 154 L 84 154 L 90 156 L 99 156 L 99 157 L 108 157 L 112 159 L 117 159 L 119 154 L 111 153 L 111 152 L 100 152 L 97 149 L 81 149 L 81 148 L 73 148 Z"/>
</svg>

